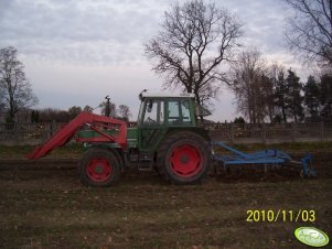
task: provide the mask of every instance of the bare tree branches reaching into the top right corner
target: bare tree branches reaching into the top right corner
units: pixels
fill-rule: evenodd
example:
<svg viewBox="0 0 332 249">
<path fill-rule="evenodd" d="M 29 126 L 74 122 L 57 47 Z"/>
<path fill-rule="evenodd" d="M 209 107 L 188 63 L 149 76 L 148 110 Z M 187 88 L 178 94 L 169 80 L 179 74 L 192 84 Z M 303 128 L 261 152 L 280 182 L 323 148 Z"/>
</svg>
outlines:
<svg viewBox="0 0 332 249">
<path fill-rule="evenodd" d="M 288 19 L 286 39 L 306 63 L 332 65 L 332 0 L 283 0 L 294 15 Z"/>
</svg>

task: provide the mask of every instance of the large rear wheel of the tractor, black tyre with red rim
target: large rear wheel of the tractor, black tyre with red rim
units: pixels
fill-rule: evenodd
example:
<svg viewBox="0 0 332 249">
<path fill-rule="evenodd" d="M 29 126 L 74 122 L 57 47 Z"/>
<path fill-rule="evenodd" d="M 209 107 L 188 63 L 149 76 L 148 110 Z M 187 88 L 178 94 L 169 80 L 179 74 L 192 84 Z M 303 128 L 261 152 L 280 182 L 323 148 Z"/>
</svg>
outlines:
<svg viewBox="0 0 332 249">
<path fill-rule="evenodd" d="M 174 184 L 194 184 L 206 176 L 211 166 L 208 141 L 193 132 L 176 132 L 158 151 L 158 169 Z"/>
</svg>

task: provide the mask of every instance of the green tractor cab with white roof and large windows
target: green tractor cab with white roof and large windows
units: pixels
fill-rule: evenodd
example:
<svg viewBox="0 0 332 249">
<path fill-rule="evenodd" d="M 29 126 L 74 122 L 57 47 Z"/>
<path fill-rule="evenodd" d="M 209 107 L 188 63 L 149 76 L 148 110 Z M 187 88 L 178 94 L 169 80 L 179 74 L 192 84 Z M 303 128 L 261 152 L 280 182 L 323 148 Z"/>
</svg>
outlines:
<svg viewBox="0 0 332 249">
<path fill-rule="evenodd" d="M 139 95 L 141 100 L 137 123 L 137 141 L 140 153 L 152 156 L 163 139 L 179 131 L 192 131 L 207 138 L 199 128 L 195 116 L 201 110 L 195 105 L 193 94 L 147 93 Z"/>
</svg>

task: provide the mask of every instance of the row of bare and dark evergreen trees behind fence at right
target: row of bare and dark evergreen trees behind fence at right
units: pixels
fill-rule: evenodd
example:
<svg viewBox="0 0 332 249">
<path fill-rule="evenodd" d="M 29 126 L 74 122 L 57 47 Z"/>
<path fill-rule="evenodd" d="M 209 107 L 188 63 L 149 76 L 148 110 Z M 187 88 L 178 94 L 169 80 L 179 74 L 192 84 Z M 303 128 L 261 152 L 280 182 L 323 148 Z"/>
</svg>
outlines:
<svg viewBox="0 0 332 249">
<path fill-rule="evenodd" d="M 229 88 L 237 110 L 251 123 L 332 120 L 332 76 L 302 84 L 296 72 L 280 65 L 267 66 L 256 48 L 243 52 L 232 65 Z"/>
</svg>

